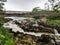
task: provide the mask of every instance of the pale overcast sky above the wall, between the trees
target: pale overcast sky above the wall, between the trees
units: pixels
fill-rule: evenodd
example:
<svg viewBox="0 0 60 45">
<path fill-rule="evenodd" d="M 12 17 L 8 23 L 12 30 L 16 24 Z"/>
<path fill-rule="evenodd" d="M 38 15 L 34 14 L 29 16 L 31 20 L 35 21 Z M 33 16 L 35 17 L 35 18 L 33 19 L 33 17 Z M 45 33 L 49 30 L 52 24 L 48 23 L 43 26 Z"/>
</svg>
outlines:
<svg viewBox="0 0 60 45">
<path fill-rule="evenodd" d="M 34 7 L 44 9 L 47 0 L 7 0 L 4 8 L 12 11 L 32 11 Z"/>
</svg>

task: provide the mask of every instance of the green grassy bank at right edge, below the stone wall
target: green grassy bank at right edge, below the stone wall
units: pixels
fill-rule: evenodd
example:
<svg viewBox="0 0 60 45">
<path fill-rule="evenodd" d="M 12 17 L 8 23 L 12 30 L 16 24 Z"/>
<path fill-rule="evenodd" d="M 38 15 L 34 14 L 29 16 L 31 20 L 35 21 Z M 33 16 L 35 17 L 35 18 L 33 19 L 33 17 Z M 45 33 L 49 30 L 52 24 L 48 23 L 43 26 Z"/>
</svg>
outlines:
<svg viewBox="0 0 60 45">
<path fill-rule="evenodd" d="M 47 19 L 48 24 L 60 26 L 60 16 L 48 16 Z"/>
</svg>

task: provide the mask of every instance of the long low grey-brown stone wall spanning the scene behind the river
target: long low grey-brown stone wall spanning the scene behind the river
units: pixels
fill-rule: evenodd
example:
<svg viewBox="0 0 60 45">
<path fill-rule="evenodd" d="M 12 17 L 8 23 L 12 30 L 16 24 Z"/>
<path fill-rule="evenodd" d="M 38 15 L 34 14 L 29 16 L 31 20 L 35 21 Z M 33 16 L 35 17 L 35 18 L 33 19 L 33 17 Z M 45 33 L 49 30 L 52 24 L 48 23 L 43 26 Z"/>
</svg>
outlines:
<svg viewBox="0 0 60 45">
<path fill-rule="evenodd" d="M 0 14 L 0 17 L 5 16 L 60 16 L 60 12 L 27 12 L 27 13 L 6 13 L 6 14 Z"/>
</svg>

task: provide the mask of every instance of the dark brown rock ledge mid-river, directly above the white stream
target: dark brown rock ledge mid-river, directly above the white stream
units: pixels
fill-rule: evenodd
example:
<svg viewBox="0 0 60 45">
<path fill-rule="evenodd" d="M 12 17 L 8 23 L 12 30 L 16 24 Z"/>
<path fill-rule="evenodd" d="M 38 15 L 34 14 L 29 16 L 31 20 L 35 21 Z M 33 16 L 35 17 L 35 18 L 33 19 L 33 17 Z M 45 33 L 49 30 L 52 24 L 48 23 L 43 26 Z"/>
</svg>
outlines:
<svg viewBox="0 0 60 45">
<path fill-rule="evenodd" d="M 26 32 L 47 32 L 47 33 L 54 33 L 53 27 L 48 24 L 44 24 L 42 22 L 37 22 L 37 21 L 27 21 L 24 22 L 22 21 L 21 23 L 15 22 L 19 27 L 21 27 L 24 31 Z"/>
</svg>

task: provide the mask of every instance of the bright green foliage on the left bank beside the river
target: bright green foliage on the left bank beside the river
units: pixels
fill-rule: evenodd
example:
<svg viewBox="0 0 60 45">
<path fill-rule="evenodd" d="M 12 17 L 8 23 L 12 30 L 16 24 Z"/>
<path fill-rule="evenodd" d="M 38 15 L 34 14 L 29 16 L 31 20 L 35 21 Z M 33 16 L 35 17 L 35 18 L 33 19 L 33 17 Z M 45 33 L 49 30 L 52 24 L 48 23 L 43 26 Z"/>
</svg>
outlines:
<svg viewBox="0 0 60 45">
<path fill-rule="evenodd" d="M 0 45 L 14 45 L 14 39 L 9 29 L 3 27 L 2 23 L 7 22 L 7 19 L 0 17 Z"/>
</svg>

